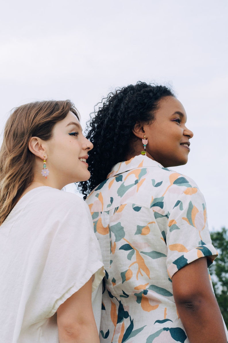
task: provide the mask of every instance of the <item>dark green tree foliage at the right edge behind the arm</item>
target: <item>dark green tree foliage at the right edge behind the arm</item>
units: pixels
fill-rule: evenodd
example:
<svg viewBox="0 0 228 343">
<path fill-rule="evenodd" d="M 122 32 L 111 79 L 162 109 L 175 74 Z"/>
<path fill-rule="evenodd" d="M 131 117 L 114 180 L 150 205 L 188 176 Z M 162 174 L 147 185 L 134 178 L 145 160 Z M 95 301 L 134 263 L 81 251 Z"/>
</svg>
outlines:
<svg viewBox="0 0 228 343">
<path fill-rule="evenodd" d="M 228 327 L 228 229 L 211 232 L 212 244 L 219 256 L 210 267 L 212 283 L 218 305 Z"/>
</svg>

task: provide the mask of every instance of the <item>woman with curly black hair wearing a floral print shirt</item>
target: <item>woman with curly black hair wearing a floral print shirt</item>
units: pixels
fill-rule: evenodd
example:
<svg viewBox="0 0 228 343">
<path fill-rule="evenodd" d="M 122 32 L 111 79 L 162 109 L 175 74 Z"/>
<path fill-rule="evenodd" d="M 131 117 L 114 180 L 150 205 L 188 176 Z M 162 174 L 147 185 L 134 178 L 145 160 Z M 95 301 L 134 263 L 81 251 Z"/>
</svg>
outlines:
<svg viewBox="0 0 228 343">
<path fill-rule="evenodd" d="M 186 112 L 165 86 L 110 93 L 87 138 L 82 192 L 105 264 L 100 341 L 227 342 L 207 267 L 217 256 L 187 163 Z"/>
</svg>

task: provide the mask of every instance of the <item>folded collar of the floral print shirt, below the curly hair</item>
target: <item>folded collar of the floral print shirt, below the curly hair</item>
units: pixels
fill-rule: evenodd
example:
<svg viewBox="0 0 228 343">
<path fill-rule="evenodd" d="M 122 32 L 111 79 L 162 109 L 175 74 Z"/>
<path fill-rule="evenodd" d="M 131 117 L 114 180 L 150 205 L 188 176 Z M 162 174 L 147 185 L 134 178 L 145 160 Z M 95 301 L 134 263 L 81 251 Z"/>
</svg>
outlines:
<svg viewBox="0 0 228 343">
<path fill-rule="evenodd" d="M 125 173 L 125 171 L 129 171 L 135 168 L 143 168 L 143 167 L 164 168 L 160 163 L 154 161 L 153 159 L 145 155 L 144 156 L 138 155 L 138 156 L 132 157 L 129 161 L 119 162 L 115 166 L 113 166 L 111 169 L 111 172 L 107 176 L 107 179 L 112 176 Z"/>
</svg>

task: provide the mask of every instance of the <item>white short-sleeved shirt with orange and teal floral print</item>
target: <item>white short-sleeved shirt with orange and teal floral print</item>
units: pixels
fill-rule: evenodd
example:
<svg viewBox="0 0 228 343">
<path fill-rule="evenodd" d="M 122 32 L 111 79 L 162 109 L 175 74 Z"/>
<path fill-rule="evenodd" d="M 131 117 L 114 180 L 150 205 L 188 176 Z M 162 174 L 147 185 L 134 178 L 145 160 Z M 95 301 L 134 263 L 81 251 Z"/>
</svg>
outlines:
<svg viewBox="0 0 228 343">
<path fill-rule="evenodd" d="M 139 155 L 116 164 L 86 202 L 106 270 L 100 342 L 189 342 L 172 276 L 217 256 L 195 182 Z"/>
</svg>

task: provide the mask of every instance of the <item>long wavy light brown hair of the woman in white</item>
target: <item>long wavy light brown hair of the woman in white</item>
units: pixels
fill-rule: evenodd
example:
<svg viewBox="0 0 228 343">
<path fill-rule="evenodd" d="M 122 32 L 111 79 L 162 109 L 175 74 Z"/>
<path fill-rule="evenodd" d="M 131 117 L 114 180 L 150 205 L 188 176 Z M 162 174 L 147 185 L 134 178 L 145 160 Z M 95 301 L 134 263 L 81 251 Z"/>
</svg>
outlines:
<svg viewBox="0 0 228 343">
<path fill-rule="evenodd" d="M 13 109 L 0 150 L 0 225 L 33 180 L 35 156 L 28 149 L 29 139 L 49 140 L 55 123 L 69 111 L 80 119 L 70 100 L 39 101 Z"/>
</svg>

